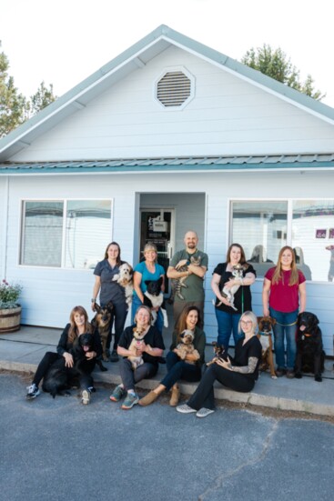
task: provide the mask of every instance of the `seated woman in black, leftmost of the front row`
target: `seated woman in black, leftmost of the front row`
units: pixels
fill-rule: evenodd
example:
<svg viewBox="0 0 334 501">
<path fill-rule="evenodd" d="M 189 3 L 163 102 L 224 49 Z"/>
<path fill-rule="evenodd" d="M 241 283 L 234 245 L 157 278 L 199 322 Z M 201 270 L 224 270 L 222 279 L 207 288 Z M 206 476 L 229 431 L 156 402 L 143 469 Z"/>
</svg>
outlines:
<svg viewBox="0 0 334 501">
<path fill-rule="evenodd" d="M 65 358 L 65 366 L 68 368 L 70 375 L 70 369 L 74 366 L 74 359 L 69 351 L 72 349 L 76 338 L 86 333 L 91 333 L 94 336 L 94 350 L 86 352 L 87 363 L 77 376 L 79 377 L 80 387 L 82 388 L 81 401 L 85 405 L 89 403 L 90 394 L 94 389 L 91 373 L 96 365 L 96 356 L 102 355 L 102 347 L 100 336 L 97 331 L 93 331 L 93 327 L 88 322 L 86 309 L 83 306 L 75 306 L 71 311 L 69 324 L 66 325 L 60 336 L 58 346 L 56 347 L 56 353 L 48 351 L 40 361 L 31 386 L 27 388 L 28 393 L 26 394 L 26 398 L 30 400 L 40 394 L 38 385 L 56 360 L 62 357 Z"/>
</svg>

